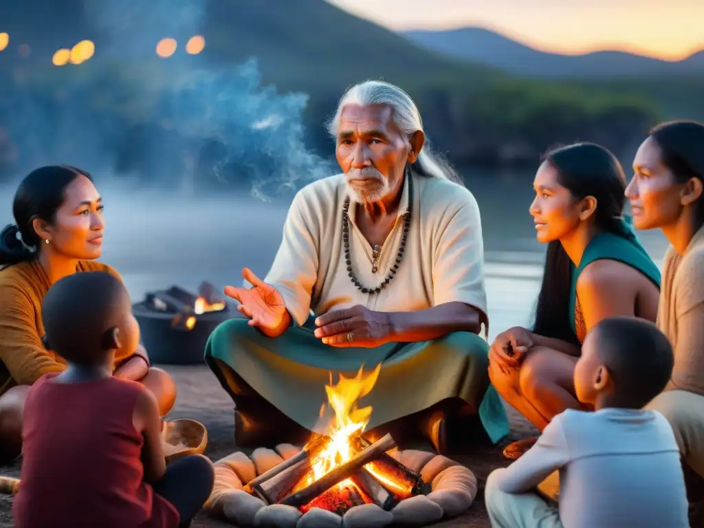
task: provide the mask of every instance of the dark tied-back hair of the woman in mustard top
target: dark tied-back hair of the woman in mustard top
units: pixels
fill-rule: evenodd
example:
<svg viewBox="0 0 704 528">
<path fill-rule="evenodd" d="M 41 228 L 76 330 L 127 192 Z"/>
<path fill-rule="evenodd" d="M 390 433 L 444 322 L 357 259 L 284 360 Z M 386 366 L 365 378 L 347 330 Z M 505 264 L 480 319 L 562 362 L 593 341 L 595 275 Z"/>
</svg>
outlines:
<svg viewBox="0 0 704 528">
<path fill-rule="evenodd" d="M 41 240 L 32 222 L 36 218 L 54 222 L 66 187 L 78 176 L 93 181 L 88 172 L 70 165 L 47 165 L 25 176 L 12 204 L 15 224 L 6 226 L 0 232 L 0 268 L 37 255 Z"/>
</svg>

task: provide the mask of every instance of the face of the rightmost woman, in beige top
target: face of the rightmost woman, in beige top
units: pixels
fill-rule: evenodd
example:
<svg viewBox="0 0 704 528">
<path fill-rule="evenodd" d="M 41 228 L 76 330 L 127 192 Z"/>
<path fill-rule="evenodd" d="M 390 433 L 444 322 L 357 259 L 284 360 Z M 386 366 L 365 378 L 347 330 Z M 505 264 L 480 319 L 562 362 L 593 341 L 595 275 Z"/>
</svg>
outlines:
<svg viewBox="0 0 704 528">
<path fill-rule="evenodd" d="M 648 137 L 633 161 L 634 175 L 626 187 L 633 225 L 639 230 L 672 225 L 682 213 L 684 184 L 677 184 L 672 171 L 662 164 L 660 146 Z"/>
</svg>

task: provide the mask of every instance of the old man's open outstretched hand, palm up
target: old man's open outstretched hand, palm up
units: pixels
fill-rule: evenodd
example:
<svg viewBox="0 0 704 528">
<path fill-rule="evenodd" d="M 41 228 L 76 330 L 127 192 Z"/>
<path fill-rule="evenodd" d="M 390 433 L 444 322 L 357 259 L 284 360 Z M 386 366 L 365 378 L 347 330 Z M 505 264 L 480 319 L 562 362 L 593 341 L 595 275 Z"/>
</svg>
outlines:
<svg viewBox="0 0 704 528">
<path fill-rule="evenodd" d="M 270 284 L 254 275 L 252 270 L 244 268 L 242 277 L 251 288 L 225 287 L 225 295 L 239 301 L 237 310 L 249 318 L 249 325 L 258 327 L 268 337 L 279 337 L 291 323 L 284 298 Z"/>
</svg>

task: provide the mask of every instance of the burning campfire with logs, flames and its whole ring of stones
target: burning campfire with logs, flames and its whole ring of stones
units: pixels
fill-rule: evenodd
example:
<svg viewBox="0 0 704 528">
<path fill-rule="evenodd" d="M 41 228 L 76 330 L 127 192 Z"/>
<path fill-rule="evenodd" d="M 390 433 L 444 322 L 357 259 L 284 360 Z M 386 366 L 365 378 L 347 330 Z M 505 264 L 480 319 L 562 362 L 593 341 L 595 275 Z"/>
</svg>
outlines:
<svg viewBox="0 0 704 528">
<path fill-rule="evenodd" d="M 426 526 L 470 508 L 477 479 L 467 467 L 427 451 L 398 451 L 390 434 L 365 436 L 372 408 L 358 403 L 380 370 L 341 375 L 337 384 L 331 375 L 320 409 L 327 427 L 302 449 L 279 444 L 215 462 L 208 513 L 248 528 L 382 528 Z"/>
</svg>

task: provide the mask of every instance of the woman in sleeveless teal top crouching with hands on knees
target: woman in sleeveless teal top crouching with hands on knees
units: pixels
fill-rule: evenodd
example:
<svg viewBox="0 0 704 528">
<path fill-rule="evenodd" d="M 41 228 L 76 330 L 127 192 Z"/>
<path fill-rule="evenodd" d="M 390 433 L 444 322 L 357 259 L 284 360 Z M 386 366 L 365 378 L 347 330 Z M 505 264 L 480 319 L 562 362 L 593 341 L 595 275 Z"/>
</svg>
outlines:
<svg viewBox="0 0 704 528">
<path fill-rule="evenodd" d="M 565 409 L 585 410 L 572 377 L 591 327 L 617 315 L 655 322 L 660 271 L 624 220 L 626 178 L 610 151 L 591 143 L 550 151 L 533 186 L 536 237 L 548 244 L 535 322 L 496 337 L 489 377 L 542 430 Z M 535 440 L 504 455 L 518 458 Z"/>
</svg>

